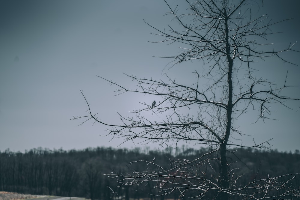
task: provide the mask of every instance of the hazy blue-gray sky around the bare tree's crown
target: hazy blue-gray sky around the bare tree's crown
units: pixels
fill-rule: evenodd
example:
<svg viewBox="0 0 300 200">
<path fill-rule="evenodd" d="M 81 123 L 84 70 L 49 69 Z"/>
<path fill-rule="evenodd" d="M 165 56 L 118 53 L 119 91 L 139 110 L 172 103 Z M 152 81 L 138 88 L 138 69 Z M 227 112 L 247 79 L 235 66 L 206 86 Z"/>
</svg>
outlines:
<svg viewBox="0 0 300 200">
<path fill-rule="evenodd" d="M 170 1 L 171 5 L 183 1 Z M 294 18 L 275 31 L 283 31 L 274 41 L 282 47 L 299 39 L 300 13 L 297 0 L 265 1 L 261 12 L 271 19 Z M 0 1 L 0 151 L 24 151 L 31 148 L 63 148 L 65 150 L 97 146 L 116 147 L 122 140 L 100 137 L 105 127 L 91 123 L 76 126 L 71 121 L 84 115 L 86 105 L 79 94 L 83 89 L 100 118 L 119 123 L 117 112 L 127 114 L 137 109 L 138 102 L 152 103 L 137 95 L 113 97 L 114 87 L 96 75 L 132 85 L 123 73 L 161 79 L 164 73 L 181 81 L 190 79 L 197 63 L 177 65 L 168 70 L 171 61 L 154 56 L 175 55 L 178 44 L 149 43 L 162 38 L 150 34 L 154 30 L 143 22 L 163 28 L 170 22 L 164 16 L 168 7 L 161 0 L 107 1 Z M 300 43 L 295 45 L 300 49 Z M 300 65 L 300 54 L 291 52 L 286 58 Z M 299 66 L 278 60 L 259 63 L 262 75 L 278 84 L 289 70 L 289 84 L 300 85 Z M 289 95 L 300 96 L 299 88 Z M 293 110 L 274 105 L 273 117 L 279 121 L 256 121 L 256 114 L 243 115 L 240 130 L 251 135 L 245 142 L 273 138 L 272 148 L 279 151 L 299 149 L 300 102 L 291 102 Z M 254 117 L 254 118 L 252 118 Z M 253 137 L 252 137 L 253 136 Z M 137 145 L 137 144 L 136 144 Z M 152 144 L 155 148 L 156 144 Z M 137 145 L 139 146 L 139 145 Z M 125 143 L 120 147 L 135 147 Z M 194 148 L 197 148 L 194 146 Z"/>
</svg>

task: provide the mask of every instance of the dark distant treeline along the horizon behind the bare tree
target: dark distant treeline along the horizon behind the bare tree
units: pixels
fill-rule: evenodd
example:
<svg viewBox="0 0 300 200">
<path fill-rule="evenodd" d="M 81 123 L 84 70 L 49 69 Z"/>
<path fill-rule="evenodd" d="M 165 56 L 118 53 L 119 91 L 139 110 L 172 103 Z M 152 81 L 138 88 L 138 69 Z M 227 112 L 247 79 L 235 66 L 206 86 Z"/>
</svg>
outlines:
<svg viewBox="0 0 300 200">
<path fill-rule="evenodd" d="M 104 174 L 109 174 L 112 170 L 126 173 L 130 170 L 129 167 L 140 170 L 147 168 L 145 163 L 133 163 L 129 166 L 131 161 L 153 160 L 155 157 L 158 164 L 168 166 L 169 159 L 192 160 L 207 152 L 209 148 L 193 149 L 186 146 L 178 148 L 176 154 L 172 153 L 170 148 L 161 151 L 148 148 L 98 147 L 70 151 L 38 148 L 25 153 L 7 149 L 0 152 L 0 190 L 107 200 L 113 199 L 116 193 L 124 196 L 124 199 L 163 199 L 149 195 L 153 193 L 151 183 L 125 187 Z M 240 183 L 248 183 L 256 177 L 298 173 L 300 169 L 298 150 L 287 153 L 240 148 L 234 152 L 232 150 L 227 156 L 231 166 L 240 168 L 243 175 L 239 179 Z M 292 181 L 292 184 L 300 187 L 299 179 L 295 178 Z M 174 199 L 177 197 L 172 196 Z"/>
</svg>

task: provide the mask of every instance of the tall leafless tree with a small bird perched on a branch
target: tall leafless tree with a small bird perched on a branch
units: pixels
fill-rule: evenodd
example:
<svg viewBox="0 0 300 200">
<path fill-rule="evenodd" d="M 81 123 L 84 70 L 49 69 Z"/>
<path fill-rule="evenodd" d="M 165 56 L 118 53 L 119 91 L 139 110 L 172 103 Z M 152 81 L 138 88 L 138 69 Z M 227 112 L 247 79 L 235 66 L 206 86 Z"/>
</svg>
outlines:
<svg viewBox="0 0 300 200">
<path fill-rule="evenodd" d="M 128 174 L 119 175 L 123 184 L 145 184 L 152 182 L 157 195 L 177 192 L 182 198 L 193 199 L 284 199 L 299 198 L 299 188 L 292 188 L 296 175 L 265 177 L 248 183 L 240 182 L 239 169 L 228 162 L 230 148 L 256 147 L 269 148 L 269 141 L 245 146 L 242 142 L 230 139 L 242 135 L 234 122 L 249 109 L 259 112 L 257 120 L 269 119 L 270 105 L 280 103 L 286 107 L 285 82 L 278 87 L 272 82 L 258 78 L 255 63 L 267 57 L 277 57 L 289 63 L 282 56 L 284 51 L 295 51 L 294 44 L 286 49 L 274 50 L 271 43 L 264 44 L 267 36 L 274 34 L 266 15 L 252 16 L 251 5 L 262 4 L 253 0 L 198 0 L 186 1 L 188 13 L 179 7 L 171 7 L 179 26 L 168 26 L 168 30 L 156 30 L 164 37 L 165 43 L 179 43 L 182 52 L 171 56 L 175 64 L 184 61 L 201 60 L 204 63 L 201 73 L 195 72 L 192 85 L 182 85 L 166 75 L 166 80 L 142 79 L 126 75 L 136 82 L 137 88 L 127 89 L 116 82 L 100 77 L 117 86 L 116 94 L 127 92 L 148 94 L 161 101 L 141 103 L 142 108 L 134 111 L 135 116 L 120 115 L 120 124 L 101 121 L 88 106 L 87 115 L 74 117 L 92 120 L 108 128 L 109 135 L 123 137 L 126 141 L 142 139 L 145 142 L 158 142 L 161 145 L 174 145 L 180 141 L 205 144 L 211 151 L 199 155 L 194 160 L 173 160 L 164 167 L 155 159 L 146 162 L 144 171 L 132 169 Z M 285 20 L 283 20 L 285 21 Z M 282 22 L 282 21 L 281 21 Z M 270 50 L 271 49 L 271 50 Z M 292 64 L 292 63 L 289 63 Z M 205 80 L 205 84 L 203 84 Z M 144 117 L 144 113 L 160 116 L 161 121 Z M 118 174 L 113 174 L 118 175 Z"/>
</svg>

